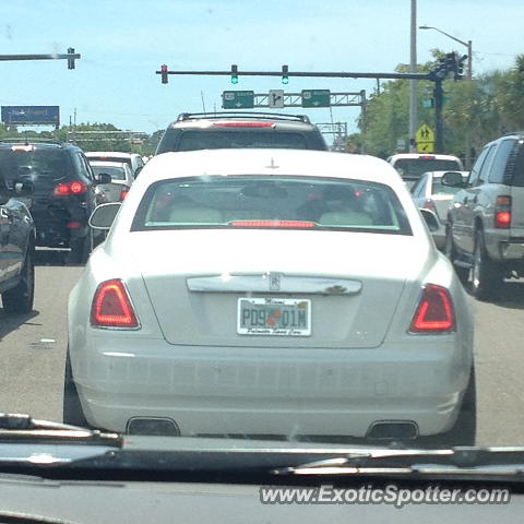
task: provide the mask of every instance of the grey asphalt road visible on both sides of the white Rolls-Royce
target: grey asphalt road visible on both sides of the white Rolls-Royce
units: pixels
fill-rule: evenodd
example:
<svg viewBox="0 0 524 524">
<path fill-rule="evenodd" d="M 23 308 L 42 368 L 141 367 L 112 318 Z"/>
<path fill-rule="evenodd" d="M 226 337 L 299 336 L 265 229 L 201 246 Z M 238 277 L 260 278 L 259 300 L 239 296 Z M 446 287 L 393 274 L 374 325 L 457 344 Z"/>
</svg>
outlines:
<svg viewBox="0 0 524 524">
<path fill-rule="evenodd" d="M 36 267 L 35 308 L 0 309 L 0 410 L 61 420 L 67 299 L 82 267 L 47 255 Z M 524 445 L 524 282 L 496 303 L 474 301 L 480 445 Z"/>
</svg>

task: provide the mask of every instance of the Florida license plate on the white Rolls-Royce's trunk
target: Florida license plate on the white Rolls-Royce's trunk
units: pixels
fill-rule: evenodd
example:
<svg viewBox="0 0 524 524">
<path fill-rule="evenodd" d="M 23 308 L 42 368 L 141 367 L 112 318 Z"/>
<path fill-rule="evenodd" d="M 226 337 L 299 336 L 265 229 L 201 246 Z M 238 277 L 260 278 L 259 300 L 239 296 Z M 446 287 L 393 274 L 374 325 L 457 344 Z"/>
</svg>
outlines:
<svg viewBox="0 0 524 524">
<path fill-rule="evenodd" d="M 295 298 L 239 298 L 239 335 L 311 335 L 311 300 Z"/>
</svg>

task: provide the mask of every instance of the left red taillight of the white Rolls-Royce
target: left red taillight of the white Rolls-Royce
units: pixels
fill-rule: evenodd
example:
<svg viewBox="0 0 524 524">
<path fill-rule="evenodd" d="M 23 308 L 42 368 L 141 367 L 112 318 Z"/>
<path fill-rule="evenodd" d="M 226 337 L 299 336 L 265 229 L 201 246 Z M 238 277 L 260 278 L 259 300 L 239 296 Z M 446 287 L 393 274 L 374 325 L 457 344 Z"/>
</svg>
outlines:
<svg viewBox="0 0 524 524">
<path fill-rule="evenodd" d="M 139 326 L 122 281 L 115 278 L 98 286 L 91 307 L 91 324 L 100 327 Z"/>
</svg>

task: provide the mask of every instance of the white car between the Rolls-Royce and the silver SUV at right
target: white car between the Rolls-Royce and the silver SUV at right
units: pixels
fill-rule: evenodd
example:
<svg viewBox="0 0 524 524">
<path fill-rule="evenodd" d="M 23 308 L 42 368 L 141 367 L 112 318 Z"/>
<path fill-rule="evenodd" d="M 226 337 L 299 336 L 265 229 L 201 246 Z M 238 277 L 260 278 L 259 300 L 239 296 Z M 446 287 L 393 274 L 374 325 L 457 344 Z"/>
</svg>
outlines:
<svg viewBox="0 0 524 524">
<path fill-rule="evenodd" d="M 412 187 L 412 195 L 416 204 L 421 209 L 432 211 L 438 219 L 438 229 L 431 235 L 439 249 L 444 249 L 448 209 L 453 202 L 453 195 L 458 191 L 458 188 L 442 184 L 442 176 L 446 172 L 450 171 L 425 172 Z M 464 181 L 469 175 L 469 171 L 454 172 L 458 172 Z"/>
</svg>

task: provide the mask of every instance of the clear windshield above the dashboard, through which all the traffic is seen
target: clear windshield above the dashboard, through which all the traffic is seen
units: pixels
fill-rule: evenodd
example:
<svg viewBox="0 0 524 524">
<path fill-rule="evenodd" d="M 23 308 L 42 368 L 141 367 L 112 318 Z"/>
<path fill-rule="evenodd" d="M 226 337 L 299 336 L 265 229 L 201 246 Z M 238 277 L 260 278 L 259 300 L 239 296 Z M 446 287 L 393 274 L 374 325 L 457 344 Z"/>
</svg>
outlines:
<svg viewBox="0 0 524 524">
<path fill-rule="evenodd" d="M 524 3 L 410 3 L 1 2 L 0 413 L 524 445 Z"/>
</svg>

